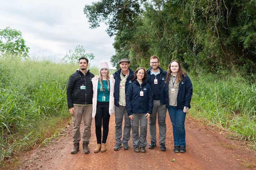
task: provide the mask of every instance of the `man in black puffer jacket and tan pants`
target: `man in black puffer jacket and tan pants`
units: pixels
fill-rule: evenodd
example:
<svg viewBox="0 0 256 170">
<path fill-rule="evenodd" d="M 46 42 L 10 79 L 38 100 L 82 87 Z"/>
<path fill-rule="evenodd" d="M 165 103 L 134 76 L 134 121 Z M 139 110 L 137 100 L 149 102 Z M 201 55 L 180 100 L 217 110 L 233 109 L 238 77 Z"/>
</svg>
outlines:
<svg viewBox="0 0 256 170">
<path fill-rule="evenodd" d="M 67 102 L 69 113 L 73 119 L 73 145 L 71 154 L 76 154 L 79 150 L 81 140 L 80 124 L 83 117 L 83 153 L 88 154 L 90 150 L 88 144 L 91 138 L 92 124 L 92 78 L 94 75 L 87 70 L 88 59 L 79 58 L 79 69 L 69 77 L 67 86 Z"/>
</svg>

